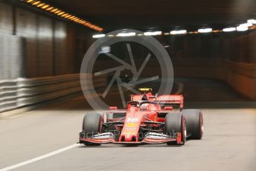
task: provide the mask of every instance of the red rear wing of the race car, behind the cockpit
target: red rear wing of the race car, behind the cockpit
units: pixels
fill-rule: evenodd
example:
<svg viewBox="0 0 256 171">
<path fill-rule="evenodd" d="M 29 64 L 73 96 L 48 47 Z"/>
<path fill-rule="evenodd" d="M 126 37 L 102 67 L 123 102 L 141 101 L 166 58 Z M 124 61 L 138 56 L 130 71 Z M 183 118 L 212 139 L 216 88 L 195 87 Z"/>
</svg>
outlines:
<svg viewBox="0 0 256 171">
<path fill-rule="evenodd" d="M 161 95 L 156 97 L 156 102 L 161 105 L 179 105 L 179 108 L 183 108 L 183 96 L 182 95 Z"/>
</svg>

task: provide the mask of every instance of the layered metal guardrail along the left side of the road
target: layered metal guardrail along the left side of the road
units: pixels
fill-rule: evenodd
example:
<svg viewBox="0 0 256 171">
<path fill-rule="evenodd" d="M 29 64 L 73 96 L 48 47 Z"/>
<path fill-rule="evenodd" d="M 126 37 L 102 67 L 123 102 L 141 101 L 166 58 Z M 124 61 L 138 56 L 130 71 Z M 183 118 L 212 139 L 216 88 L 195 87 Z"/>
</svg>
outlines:
<svg viewBox="0 0 256 171">
<path fill-rule="evenodd" d="M 83 79 L 86 77 L 84 74 Z M 107 77 L 97 77 L 93 86 L 100 88 L 106 83 Z M 81 91 L 80 74 L 0 80 L 0 113 Z"/>
</svg>

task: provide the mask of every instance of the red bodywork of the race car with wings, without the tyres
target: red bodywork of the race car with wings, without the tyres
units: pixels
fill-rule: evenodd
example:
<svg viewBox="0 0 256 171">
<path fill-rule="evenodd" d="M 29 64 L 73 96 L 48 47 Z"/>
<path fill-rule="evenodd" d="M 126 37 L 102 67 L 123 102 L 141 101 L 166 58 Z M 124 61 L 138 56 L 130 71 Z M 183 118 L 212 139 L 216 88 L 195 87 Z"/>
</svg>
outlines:
<svg viewBox="0 0 256 171">
<path fill-rule="evenodd" d="M 165 115 L 173 112 L 173 106 L 183 107 L 182 95 L 154 96 L 147 94 L 132 95 L 126 110 L 109 107 L 101 119 L 98 135 L 87 137 L 80 133 L 80 142 L 90 143 L 167 143 L 182 141 L 181 132 L 168 136 L 164 132 Z M 109 127 L 115 129 L 114 135 Z"/>
</svg>

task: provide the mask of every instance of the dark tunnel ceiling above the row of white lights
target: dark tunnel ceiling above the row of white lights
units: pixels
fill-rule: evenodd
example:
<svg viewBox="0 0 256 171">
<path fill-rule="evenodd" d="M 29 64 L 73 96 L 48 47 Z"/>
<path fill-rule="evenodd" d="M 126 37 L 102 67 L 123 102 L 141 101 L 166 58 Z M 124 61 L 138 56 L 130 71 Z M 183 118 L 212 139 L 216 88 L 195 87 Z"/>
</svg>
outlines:
<svg viewBox="0 0 256 171">
<path fill-rule="evenodd" d="M 255 0 L 48 0 L 105 30 L 223 28 L 256 16 Z"/>
</svg>

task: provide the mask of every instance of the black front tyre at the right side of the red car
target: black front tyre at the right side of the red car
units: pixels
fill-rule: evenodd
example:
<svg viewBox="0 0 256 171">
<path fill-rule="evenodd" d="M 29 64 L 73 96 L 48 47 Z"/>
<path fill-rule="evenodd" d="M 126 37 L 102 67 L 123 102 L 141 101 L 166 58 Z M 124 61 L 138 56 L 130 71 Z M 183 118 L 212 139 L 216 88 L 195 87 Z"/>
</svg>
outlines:
<svg viewBox="0 0 256 171">
<path fill-rule="evenodd" d="M 177 132 L 182 134 L 182 142 L 167 142 L 167 145 L 183 145 L 186 142 L 186 124 L 185 117 L 181 113 L 169 113 L 165 116 L 165 132 L 167 135 L 173 135 Z"/>
</svg>

